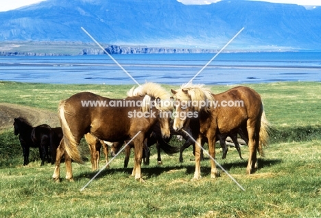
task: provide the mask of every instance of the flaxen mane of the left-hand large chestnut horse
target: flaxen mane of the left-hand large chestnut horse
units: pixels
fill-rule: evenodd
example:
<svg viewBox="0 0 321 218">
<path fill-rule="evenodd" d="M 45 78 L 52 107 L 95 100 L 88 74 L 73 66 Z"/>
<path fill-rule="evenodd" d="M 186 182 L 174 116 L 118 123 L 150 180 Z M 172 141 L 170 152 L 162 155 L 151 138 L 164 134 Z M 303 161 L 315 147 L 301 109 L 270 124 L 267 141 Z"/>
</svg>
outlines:
<svg viewBox="0 0 321 218">
<path fill-rule="evenodd" d="M 153 82 L 147 82 L 146 84 L 143 84 L 142 86 L 139 86 L 137 88 L 132 87 L 128 91 L 127 96 L 144 96 L 144 104 L 142 106 L 143 110 L 147 110 L 147 108 L 149 108 L 152 97 L 154 99 L 160 98 L 160 110 L 169 111 L 173 109 L 172 104 L 169 104 L 169 101 L 171 101 L 171 96 L 169 95 L 169 93 L 162 86 Z M 164 103 L 165 101 L 168 102 Z"/>
</svg>

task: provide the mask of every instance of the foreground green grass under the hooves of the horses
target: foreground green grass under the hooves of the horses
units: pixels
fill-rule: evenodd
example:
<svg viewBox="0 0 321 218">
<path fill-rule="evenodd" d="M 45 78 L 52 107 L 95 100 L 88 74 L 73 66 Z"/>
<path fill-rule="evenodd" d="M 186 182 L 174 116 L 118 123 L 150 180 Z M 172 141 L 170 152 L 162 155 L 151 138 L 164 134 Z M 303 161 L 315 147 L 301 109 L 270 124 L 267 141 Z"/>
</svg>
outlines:
<svg viewBox="0 0 321 218">
<path fill-rule="evenodd" d="M 53 166 L 16 165 L 1 169 L 1 217 L 320 217 L 321 141 L 273 144 L 260 159 L 260 169 L 246 175 L 246 160 L 239 160 L 235 149 L 228 158 L 217 161 L 243 186 L 225 173 L 210 179 L 209 160 L 202 162 L 202 179 L 191 182 L 194 162 L 191 149 L 185 162 L 178 155 L 163 154 L 163 165 L 156 165 L 152 149 L 150 166 L 143 166 L 145 184 L 130 178 L 131 168 L 123 169 L 123 156 L 95 175 L 90 162 L 73 163 L 75 182 L 56 184 L 51 180 Z M 242 149 L 247 158 L 246 148 Z M 217 149 L 219 153 L 219 149 Z M 104 162 L 100 162 L 103 166 Z M 132 159 L 130 160 L 132 167 Z M 65 169 L 62 164 L 62 177 Z"/>
</svg>

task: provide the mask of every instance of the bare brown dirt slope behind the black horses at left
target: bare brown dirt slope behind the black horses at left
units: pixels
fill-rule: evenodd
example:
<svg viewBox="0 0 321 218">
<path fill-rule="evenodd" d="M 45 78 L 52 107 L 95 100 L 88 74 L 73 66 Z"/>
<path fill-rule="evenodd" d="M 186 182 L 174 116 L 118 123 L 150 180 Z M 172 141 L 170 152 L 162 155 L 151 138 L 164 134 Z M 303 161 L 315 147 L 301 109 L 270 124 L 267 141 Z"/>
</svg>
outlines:
<svg viewBox="0 0 321 218">
<path fill-rule="evenodd" d="M 60 125 L 58 114 L 55 112 L 18 104 L 0 103 L 0 132 L 12 128 L 16 117 L 25 117 L 34 126 L 46 123 L 54 128 Z"/>
</svg>

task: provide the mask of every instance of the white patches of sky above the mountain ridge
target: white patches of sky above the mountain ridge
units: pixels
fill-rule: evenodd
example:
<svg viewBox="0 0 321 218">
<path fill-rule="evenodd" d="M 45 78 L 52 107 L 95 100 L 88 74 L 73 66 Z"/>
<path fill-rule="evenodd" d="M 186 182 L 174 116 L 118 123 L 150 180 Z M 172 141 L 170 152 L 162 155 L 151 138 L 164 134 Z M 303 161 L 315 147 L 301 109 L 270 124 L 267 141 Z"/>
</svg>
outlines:
<svg viewBox="0 0 321 218">
<path fill-rule="evenodd" d="M 40 1 L 46 1 L 46 0 L 0 0 L 0 12 L 21 8 L 23 6 L 31 5 L 33 3 L 38 3 Z M 180 1 L 185 4 L 209 4 L 209 3 L 215 3 L 220 0 L 177 0 L 177 1 Z M 254 1 L 254 0 L 248 0 L 248 1 Z M 258 0 L 258 1 L 263 1 L 263 0 Z M 321 6 L 320 0 L 265 0 L 265 1 L 274 2 L 274 3 L 293 3 L 297 5 Z"/>
</svg>

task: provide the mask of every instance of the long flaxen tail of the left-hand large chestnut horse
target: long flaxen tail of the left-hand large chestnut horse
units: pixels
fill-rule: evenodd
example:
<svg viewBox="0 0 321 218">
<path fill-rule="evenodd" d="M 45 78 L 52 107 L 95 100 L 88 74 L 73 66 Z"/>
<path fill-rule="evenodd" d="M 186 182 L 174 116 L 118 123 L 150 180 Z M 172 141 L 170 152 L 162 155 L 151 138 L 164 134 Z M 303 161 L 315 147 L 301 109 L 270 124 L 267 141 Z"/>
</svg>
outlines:
<svg viewBox="0 0 321 218">
<path fill-rule="evenodd" d="M 66 101 L 60 101 L 59 108 L 58 108 L 60 125 L 63 132 L 64 147 L 66 149 L 67 154 L 71 157 L 71 159 L 75 160 L 76 162 L 82 163 L 83 160 L 80 155 L 80 151 L 78 149 L 78 143 L 75 141 L 75 137 L 71 133 L 66 117 L 64 117 L 64 114 L 67 113 L 64 110 L 65 105 L 66 105 Z"/>
</svg>

